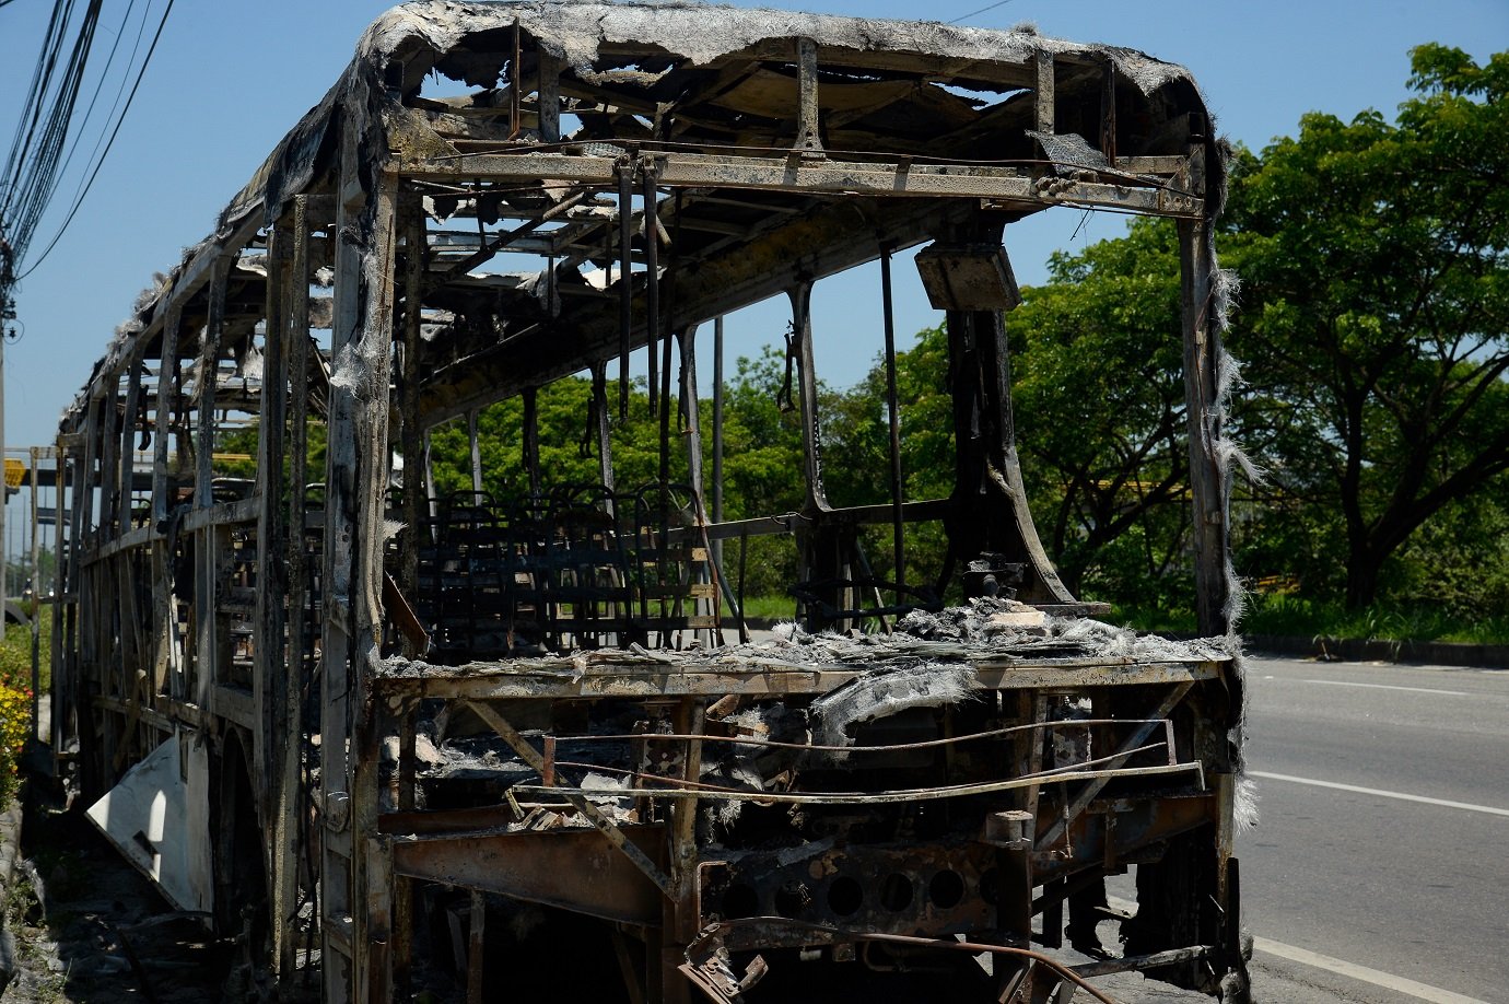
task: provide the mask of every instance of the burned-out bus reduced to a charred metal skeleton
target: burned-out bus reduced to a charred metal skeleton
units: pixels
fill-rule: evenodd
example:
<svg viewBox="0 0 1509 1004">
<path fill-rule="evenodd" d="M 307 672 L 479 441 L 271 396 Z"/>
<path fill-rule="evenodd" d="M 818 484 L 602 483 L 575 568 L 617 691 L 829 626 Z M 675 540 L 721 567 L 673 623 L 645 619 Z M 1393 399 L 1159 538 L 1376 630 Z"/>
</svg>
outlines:
<svg viewBox="0 0 1509 1004">
<path fill-rule="evenodd" d="M 1222 169 L 1185 69 L 1029 30 L 385 14 L 63 417 L 54 749 L 91 818 L 330 1001 L 1111 999 L 1115 971 L 1242 999 Z M 1034 530 L 1003 236 L 1064 207 L 1177 220 L 1201 640 L 1106 625 Z M 907 495 L 892 387 L 892 491 L 833 504 L 815 346 L 893 367 L 913 249 L 952 486 Z M 813 288 L 877 261 L 878 329 L 819 329 Z M 804 488 L 727 519 L 696 332 L 782 294 Z M 589 483 L 540 462 L 561 380 Z M 477 491 L 435 488 L 447 423 Z M 795 569 L 770 633 L 756 544 Z M 1132 867 L 1124 951 L 1055 953 Z"/>
</svg>

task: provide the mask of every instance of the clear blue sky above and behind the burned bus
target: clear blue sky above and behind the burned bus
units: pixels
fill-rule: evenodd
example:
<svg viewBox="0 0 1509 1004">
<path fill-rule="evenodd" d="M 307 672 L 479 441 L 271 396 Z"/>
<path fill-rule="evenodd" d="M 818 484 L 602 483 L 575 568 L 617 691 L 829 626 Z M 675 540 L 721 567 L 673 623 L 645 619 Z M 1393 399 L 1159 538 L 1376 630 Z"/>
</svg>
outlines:
<svg viewBox="0 0 1509 1004">
<path fill-rule="evenodd" d="M 164 2 L 143 6 L 148 0 L 137 0 L 127 45 L 143 12 L 151 36 Z M 809 0 L 759 6 L 868 17 L 922 12 L 951 21 L 987 3 Z M 210 231 L 219 208 L 323 97 L 362 29 L 385 6 L 358 0 L 184 0 L 174 8 L 100 180 L 69 231 L 18 293 L 24 334 L 5 349 L 8 445 L 51 441 L 59 412 L 137 291 L 152 272 L 175 264 L 183 246 Z M 100 62 L 125 8 L 125 0 L 106 0 Z M 47 0 L 12 0 L 0 8 L 5 140 L 15 130 L 50 11 Z M 1375 107 L 1391 115 L 1408 97 L 1406 53 L 1418 42 L 1458 45 L 1479 60 L 1509 48 L 1506 0 L 1010 0 L 963 23 L 1011 27 L 1022 21 L 1035 23 L 1046 35 L 1127 45 L 1189 66 L 1219 128 L 1255 148 L 1292 134 L 1308 110 L 1351 118 Z M 110 97 L 113 88 L 104 101 Z M 91 122 L 86 148 L 97 131 L 98 124 Z M 33 239 L 33 254 L 54 236 L 78 181 L 77 168 L 63 178 Z M 1050 211 L 1008 228 L 1007 245 L 1019 279 L 1031 284 L 1043 278 L 1043 263 L 1055 248 L 1082 248 L 1121 226 L 1115 216 Z M 898 332 L 905 343 L 908 332 L 936 319 L 911 267 L 898 267 L 896 278 Z M 869 273 L 831 290 L 818 287 L 818 370 L 828 382 L 853 383 L 874 359 L 880 344 L 877 297 L 878 278 Z M 783 326 L 785 311 L 776 306 L 730 319 L 730 355 L 758 353 Z M 706 362 L 700 368 L 705 376 L 711 370 Z"/>
</svg>

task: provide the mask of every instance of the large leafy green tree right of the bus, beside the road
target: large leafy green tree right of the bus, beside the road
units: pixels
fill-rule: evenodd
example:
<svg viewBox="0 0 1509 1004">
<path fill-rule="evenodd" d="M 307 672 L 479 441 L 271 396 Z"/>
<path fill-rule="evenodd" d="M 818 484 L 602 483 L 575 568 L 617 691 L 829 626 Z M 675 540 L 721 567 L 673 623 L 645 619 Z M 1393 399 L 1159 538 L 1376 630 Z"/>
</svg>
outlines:
<svg viewBox="0 0 1509 1004">
<path fill-rule="evenodd" d="M 1311 113 L 1245 157 L 1224 242 L 1243 279 L 1245 424 L 1274 436 L 1265 524 L 1335 539 L 1323 557 L 1349 607 L 1509 470 L 1509 53 L 1479 66 L 1421 45 L 1412 66 L 1396 122 Z"/>
</svg>

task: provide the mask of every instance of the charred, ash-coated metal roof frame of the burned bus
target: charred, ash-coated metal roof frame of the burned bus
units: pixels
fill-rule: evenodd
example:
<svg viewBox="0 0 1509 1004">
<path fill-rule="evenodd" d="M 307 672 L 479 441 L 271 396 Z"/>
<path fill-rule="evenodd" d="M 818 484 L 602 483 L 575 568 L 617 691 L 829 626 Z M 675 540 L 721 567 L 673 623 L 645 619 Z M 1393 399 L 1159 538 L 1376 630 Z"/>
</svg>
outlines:
<svg viewBox="0 0 1509 1004">
<path fill-rule="evenodd" d="M 554 65 L 542 72 L 542 63 Z M 441 77 L 474 91 L 427 97 L 427 85 Z M 558 88 L 558 107 L 573 119 L 570 131 L 557 112 L 542 121 L 545 103 L 521 109 L 521 94 L 542 80 Z M 561 172 L 567 180 L 561 187 L 527 186 L 560 201 L 573 184 L 601 183 L 604 168 L 598 165 L 608 165 L 611 174 L 622 156 L 668 157 L 673 169 L 661 184 L 679 187 L 688 202 L 670 225 L 684 223 L 688 234 L 699 236 L 678 249 L 682 270 L 691 272 L 699 255 L 717 252 L 717 237 L 727 243 L 729 228 L 748 233 L 768 225 L 761 216 L 818 210 L 827 213 L 824 223 L 854 217 L 860 226 L 884 231 L 878 220 L 865 219 L 875 216 L 875 199 L 868 196 L 957 198 L 969 178 L 1000 183 L 1002 198 L 993 208 L 1013 216 L 1052 204 L 1111 210 L 1120 204 L 1127 211 L 1195 216 L 1209 214 L 1218 201 L 1192 195 L 1200 186 L 1182 177 L 1189 142 L 1209 131 L 1194 80 L 1182 66 L 1129 48 L 1067 42 L 1022 29 L 691 3 L 409 3 L 373 23 L 335 86 L 220 213 L 216 233 L 187 249 L 161 282 L 143 291 L 91 385 L 65 412 L 65 429 L 81 421 L 85 402 L 103 393 L 106 374 L 148 355 L 148 343 L 155 341 L 171 308 L 183 310 L 186 319 L 207 313 L 202 290 L 216 257 L 257 243 L 261 228 L 294 195 L 333 192 L 343 121 L 362 136 L 370 183 L 389 165 L 423 166 L 429 174 L 421 177 L 433 183 L 442 169 L 465 178 L 475 168 L 477 177 L 484 177 L 496 172 L 504 157 L 519 154 L 581 162 Z M 771 174 L 774 166 L 800 154 L 797 166 L 812 168 L 803 175 L 812 181 L 792 193 L 770 190 L 754 178 L 747 202 L 720 204 L 706 193 L 709 198 L 697 204 L 696 171 L 675 171 L 675 156 L 691 156 L 688 151 L 726 154 L 730 165 L 758 162 L 764 178 L 783 177 Z M 1204 169 L 1219 172 L 1219 159 L 1209 157 Z M 738 187 L 729 172 L 715 181 Z M 1206 190 L 1219 192 L 1219 178 L 1204 183 Z M 436 217 L 460 210 L 486 219 L 510 199 L 509 192 L 444 181 L 435 184 L 435 193 Z M 453 198 L 447 201 L 447 195 Z M 857 205 L 821 205 L 834 196 Z M 519 291 L 546 308 L 563 288 L 579 299 L 575 287 L 585 284 L 573 266 L 593 257 L 581 240 L 605 231 L 613 216 L 611 207 L 595 207 L 589 199 L 561 213 L 561 222 L 575 229 L 537 233 L 533 243 L 516 240 L 512 251 L 561 255 L 558 281 L 546 288 L 519 282 Z M 924 239 L 916 228 L 901 231 L 893 245 Z M 573 239 L 581 240 L 573 245 Z M 807 234 L 794 231 L 792 239 L 800 245 Z M 853 233 L 841 240 L 853 243 Z M 874 254 L 878 246 L 869 257 Z M 822 260 L 819 252 L 812 258 L 791 267 L 822 275 L 857 264 L 850 257 Z M 246 299 L 257 300 L 252 285 L 260 276 L 232 270 L 232 279 L 243 278 Z M 496 294 L 495 288 L 478 288 L 484 284 L 474 276 L 442 275 L 439 281 L 454 287 L 439 300 L 450 296 L 475 305 L 478 296 Z M 498 285 L 495 276 L 490 284 Z M 711 316 L 727 305 L 717 297 L 699 303 L 684 296 L 682 306 L 702 306 Z M 234 314 L 232 288 L 226 320 Z M 232 335 L 235 331 L 228 328 Z M 611 347 L 604 347 L 605 356 Z M 436 400 L 426 408 L 430 421 L 456 414 L 460 399 L 475 405 L 471 388 L 445 388 L 444 379 L 432 397 Z"/>
</svg>

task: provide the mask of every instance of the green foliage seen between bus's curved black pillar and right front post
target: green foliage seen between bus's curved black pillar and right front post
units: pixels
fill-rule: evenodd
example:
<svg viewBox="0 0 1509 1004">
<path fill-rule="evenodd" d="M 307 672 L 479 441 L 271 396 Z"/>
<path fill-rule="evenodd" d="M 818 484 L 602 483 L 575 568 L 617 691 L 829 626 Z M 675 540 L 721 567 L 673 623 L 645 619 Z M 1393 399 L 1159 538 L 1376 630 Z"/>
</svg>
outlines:
<svg viewBox="0 0 1509 1004">
<path fill-rule="evenodd" d="M 1070 590 L 1185 584 L 1189 453 L 1179 243 L 1166 220 L 1055 254 L 1007 317 L 1023 479 Z M 1188 595 L 1188 590 L 1186 590 Z"/>
</svg>

